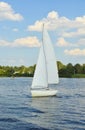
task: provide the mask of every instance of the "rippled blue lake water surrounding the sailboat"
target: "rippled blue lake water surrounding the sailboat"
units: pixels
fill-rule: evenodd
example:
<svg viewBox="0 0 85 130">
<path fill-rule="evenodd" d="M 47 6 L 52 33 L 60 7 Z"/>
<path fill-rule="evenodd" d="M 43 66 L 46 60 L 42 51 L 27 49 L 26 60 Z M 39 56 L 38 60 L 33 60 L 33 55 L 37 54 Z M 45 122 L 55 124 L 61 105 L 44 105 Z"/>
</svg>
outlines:
<svg viewBox="0 0 85 130">
<path fill-rule="evenodd" d="M 0 78 L 0 130 L 85 130 L 85 79 L 61 78 L 44 98 L 31 98 L 31 83 Z"/>
</svg>

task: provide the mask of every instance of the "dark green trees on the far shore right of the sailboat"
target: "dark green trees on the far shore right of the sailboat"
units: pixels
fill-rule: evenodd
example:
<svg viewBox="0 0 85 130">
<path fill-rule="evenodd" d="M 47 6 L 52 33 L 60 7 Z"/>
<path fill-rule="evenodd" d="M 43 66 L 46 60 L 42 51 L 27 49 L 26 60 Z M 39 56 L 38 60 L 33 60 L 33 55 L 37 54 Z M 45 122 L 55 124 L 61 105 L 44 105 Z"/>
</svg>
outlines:
<svg viewBox="0 0 85 130">
<path fill-rule="evenodd" d="M 68 63 L 67 65 L 62 64 L 60 61 L 57 62 L 59 77 L 67 78 L 85 78 L 85 64 Z"/>
</svg>

